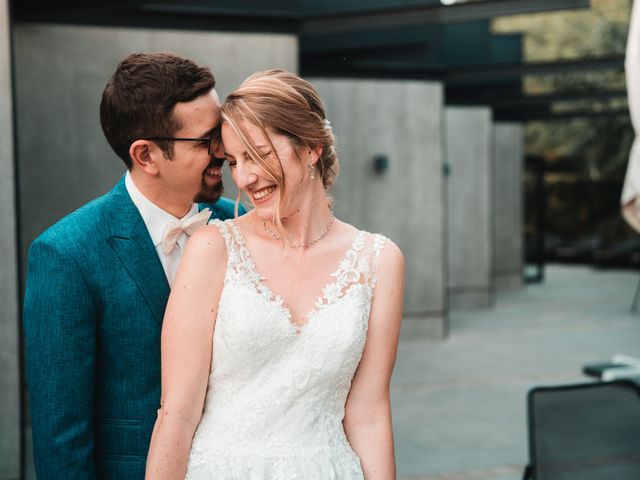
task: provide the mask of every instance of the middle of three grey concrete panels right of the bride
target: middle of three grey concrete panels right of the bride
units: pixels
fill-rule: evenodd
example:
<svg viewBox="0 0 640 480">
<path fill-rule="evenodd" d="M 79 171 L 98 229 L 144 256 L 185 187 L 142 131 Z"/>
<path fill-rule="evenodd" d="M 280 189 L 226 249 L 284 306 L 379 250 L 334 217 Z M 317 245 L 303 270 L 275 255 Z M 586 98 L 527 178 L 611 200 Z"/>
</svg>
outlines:
<svg viewBox="0 0 640 480">
<path fill-rule="evenodd" d="M 492 120 L 488 108 L 446 109 L 449 306 L 493 303 Z"/>
</svg>

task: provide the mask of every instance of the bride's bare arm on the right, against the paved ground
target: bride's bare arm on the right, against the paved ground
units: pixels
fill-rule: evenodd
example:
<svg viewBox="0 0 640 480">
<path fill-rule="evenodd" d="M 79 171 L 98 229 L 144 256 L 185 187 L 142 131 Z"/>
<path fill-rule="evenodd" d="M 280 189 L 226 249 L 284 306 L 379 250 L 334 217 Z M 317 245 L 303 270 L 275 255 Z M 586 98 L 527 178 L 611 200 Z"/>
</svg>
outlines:
<svg viewBox="0 0 640 480">
<path fill-rule="evenodd" d="M 380 255 L 367 343 L 345 406 L 344 429 L 366 480 L 393 480 L 395 459 L 389 382 L 398 349 L 404 259 L 389 242 Z"/>
</svg>

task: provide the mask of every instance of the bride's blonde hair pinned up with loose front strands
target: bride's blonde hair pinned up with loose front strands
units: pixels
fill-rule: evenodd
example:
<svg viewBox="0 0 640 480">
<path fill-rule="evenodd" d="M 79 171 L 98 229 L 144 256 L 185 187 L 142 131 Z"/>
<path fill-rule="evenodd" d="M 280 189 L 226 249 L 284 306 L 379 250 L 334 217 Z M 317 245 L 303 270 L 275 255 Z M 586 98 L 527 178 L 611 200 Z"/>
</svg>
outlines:
<svg viewBox="0 0 640 480">
<path fill-rule="evenodd" d="M 335 137 L 326 118 L 326 112 L 316 89 L 306 80 L 285 70 L 266 70 L 247 78 L 229 96 L 222 106 L 222 120 L 226 122 L 247 148 L 249 156 L 265 172 L 280 190 L 274 223 L 281 232 L 280 208 L 285 185 L 282 162 L 270 145 L 272 154 L 278 158 L 276 168 L 256 148 L 243 122 L 249 122 L 262 131 L 267 141 L 271 140 L 267 130 L 288 137 L 298 155 L 301 149 L 322 151 L 318 167 L 325 190 L 333 185 L 340 169 L 335 150 Z"/>
</svg>

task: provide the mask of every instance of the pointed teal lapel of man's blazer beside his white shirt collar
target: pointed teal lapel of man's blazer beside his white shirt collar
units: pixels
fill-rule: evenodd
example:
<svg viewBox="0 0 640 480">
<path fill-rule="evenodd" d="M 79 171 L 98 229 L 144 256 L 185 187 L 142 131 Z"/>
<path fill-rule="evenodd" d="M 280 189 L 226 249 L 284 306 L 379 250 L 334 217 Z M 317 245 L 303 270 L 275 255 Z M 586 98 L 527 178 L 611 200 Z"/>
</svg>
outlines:
<svg viewBox="0 0 640 480">
<path fill-rule="evenodd" d="M 124 185 L 124 178 L 111 192 L 109 244 L 142 292 L 149 308 L 162 322 L 169 297 L 169 283 L 144 220 Z"/>
</svg>

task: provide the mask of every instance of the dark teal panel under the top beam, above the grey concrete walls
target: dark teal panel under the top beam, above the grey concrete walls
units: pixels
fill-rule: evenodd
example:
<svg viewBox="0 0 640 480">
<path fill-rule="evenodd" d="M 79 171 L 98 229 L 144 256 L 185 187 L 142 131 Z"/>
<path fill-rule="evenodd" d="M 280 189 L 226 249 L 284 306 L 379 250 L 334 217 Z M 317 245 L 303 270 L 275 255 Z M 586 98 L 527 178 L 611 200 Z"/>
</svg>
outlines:
<svg viewBox="0 0 640 480">
<path fill-rule="evenodd" d="M 522 50 L 519 35 L 492 35 L 485 20 L 305 34 L 300 45 L 302 71 L 309 74 L 441 78 L 462 89 L 489 85 L 520 88 L 518 74 L 482 75 L 493 65 L 519 64 Z M 475 73 L 478 69 L 479 74 Z"/>
</svg>

